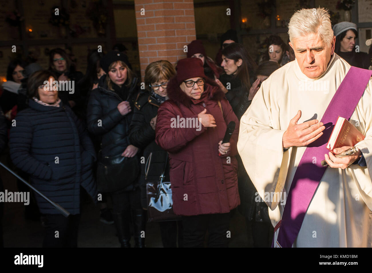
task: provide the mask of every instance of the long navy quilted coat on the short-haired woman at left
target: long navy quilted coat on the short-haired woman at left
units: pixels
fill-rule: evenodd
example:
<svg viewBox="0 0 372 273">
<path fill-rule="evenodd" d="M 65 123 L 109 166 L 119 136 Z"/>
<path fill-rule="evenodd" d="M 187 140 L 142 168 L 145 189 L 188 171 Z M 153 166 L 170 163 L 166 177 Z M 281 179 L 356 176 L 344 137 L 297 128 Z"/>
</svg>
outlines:
<svg viewBox="0 0 372 273">
<path fill-rule="evenodd" d="M 80 213 L 80 185 L 97 200 L 92 164 L 96 159 L 88 132 L 71 108 L 41 105 L 32 99 L 10 129 L 10 157 L 31 175 L 31 183 L 71 214 Z M 60 214 L 36 194 L 42 214 Z"/>
</svg>

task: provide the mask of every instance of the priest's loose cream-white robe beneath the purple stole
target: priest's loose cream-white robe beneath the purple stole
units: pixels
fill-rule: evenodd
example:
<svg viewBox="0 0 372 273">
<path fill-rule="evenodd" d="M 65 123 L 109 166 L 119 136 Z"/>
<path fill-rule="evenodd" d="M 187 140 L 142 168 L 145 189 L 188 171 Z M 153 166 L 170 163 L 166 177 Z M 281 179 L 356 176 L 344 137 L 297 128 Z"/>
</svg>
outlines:
<svg viewBox="0 0 372 273">
<path fill-rule="evenodd" d="M 283 152 L 282 138 L 289 122 L 302 111 L 298 124 L 321 120 L 350 65 L 335 53 L 326 72 L 307 78 L 296 60 L 276 70 L 261 85 L 240 121 L 238 151 L 262 200 L 265 193 L 288 195 L 306 147 Z M 294 247 L 371 247 L 372 244 L 372 79 L 358 102 L 350 123 L 366 138 L 362 150 L 367 167 L 328 167 L 305 214 Z M 350 96 L 353 91 L 350 90 Z M 347 101 L 345 102 L 347 103 Z M 313 158 L 316 161 L 322 158 Z M 284 194 L 283 194 L 284 193 Z M 267 197 L 267 196 L 266 196 Z M 275 226 L 285 200 L 265 200 Z M 277 233 L 278 231 L 276 231 Z"/>
</svg>

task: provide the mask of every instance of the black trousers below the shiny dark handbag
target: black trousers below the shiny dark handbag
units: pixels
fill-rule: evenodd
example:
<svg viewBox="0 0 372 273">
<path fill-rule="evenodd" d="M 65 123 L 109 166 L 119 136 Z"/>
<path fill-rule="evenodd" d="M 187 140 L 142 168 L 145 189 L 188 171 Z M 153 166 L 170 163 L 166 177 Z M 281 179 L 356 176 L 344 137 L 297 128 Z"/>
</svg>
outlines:
<svg viewBox="0 0 372 273">
<path fill-rule="evenodd" d="M 183 227 L 182 221 L 159 222 L 161 242 L 163 247 L 183 247 Z M 178 228 L 177 228 L 178 227 Z M 178 231 L 178 238 L 177 238 Z"/>
</svg>

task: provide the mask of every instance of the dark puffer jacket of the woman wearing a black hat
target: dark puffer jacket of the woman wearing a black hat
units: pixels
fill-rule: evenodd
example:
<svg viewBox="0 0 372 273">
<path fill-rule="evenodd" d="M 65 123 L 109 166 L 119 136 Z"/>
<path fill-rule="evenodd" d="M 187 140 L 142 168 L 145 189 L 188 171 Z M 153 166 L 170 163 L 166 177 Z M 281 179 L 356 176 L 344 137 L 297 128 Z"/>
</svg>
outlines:
<svg viewBox="0 0 372 273">
<path fill-rule="evenodd" d="M 115 91 L 109 90 L 106 84 L 106 75 L 103 75 L 99 79 L 98 88 L 92 90 L 88 100 L 87 126 L 89 132 L 101 136 L 100 157 L 122 154 L 126 147 L 131 145 L 128 135 L 134 100 L 138 93 L 137 78 L 133 79 L 130 88 L 125 87 L 125 85 L 119 88 L 114 83 L 113 88 Z M 122 101 L 129 101 L 132 109 L 124 116 L 120 114 L 117 108 Z M 133 186 L 135 184 L 129 185 L 126 190 L 131 190 Z"/>
</svg>

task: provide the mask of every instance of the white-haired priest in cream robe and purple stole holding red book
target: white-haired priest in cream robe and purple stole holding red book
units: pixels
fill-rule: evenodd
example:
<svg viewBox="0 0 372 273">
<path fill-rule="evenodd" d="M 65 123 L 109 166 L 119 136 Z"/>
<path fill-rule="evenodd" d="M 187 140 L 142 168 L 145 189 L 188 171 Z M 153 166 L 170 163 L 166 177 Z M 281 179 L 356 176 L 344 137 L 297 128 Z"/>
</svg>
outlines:
<svg viewBox="0 0 372 273">
<path fill-rule="evenodd" d="M 289 22 L 296 59 L 266 79 L 240 121 L 238 151 L 269 206 L 274 247 L 371 247 L 371 70 L 334 53 L 327 10 Z M 359 152 L 325 147 L 341 116 L 365 139 Z M 328 167 L 323 167 L 325 160 Z M 258 199 L 258 198 L 257 198 Z"/>
</svg>

